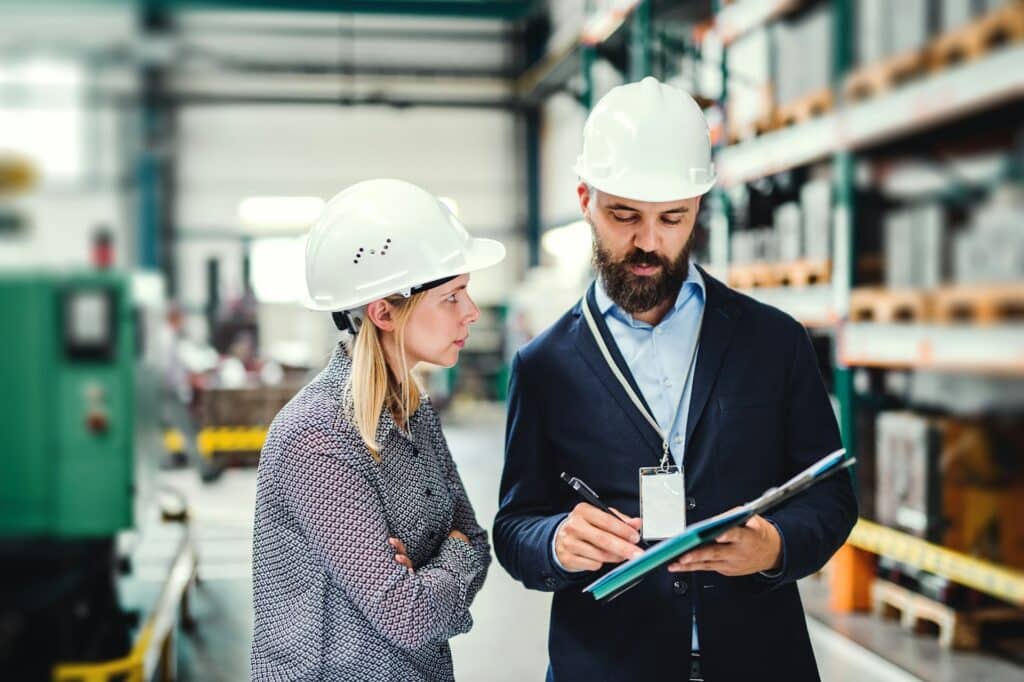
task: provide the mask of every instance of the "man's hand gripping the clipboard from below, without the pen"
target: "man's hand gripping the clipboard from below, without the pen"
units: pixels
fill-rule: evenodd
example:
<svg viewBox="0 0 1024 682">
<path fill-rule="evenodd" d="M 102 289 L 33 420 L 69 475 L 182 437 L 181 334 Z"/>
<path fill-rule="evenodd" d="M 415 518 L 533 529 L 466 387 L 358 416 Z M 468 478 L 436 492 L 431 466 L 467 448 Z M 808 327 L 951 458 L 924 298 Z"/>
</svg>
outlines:
<svg viewBox="0 0 1024 682">
<path fill-rule="evenodd" d="M 754 516 L 729 528 L 714 545 L 695 549 L 669 564 L 671 572 L 714 570 L 723 576 L 749 576 L 775 570 L 782 560 L 782 539 L 774 525 Z"/>
</svg>

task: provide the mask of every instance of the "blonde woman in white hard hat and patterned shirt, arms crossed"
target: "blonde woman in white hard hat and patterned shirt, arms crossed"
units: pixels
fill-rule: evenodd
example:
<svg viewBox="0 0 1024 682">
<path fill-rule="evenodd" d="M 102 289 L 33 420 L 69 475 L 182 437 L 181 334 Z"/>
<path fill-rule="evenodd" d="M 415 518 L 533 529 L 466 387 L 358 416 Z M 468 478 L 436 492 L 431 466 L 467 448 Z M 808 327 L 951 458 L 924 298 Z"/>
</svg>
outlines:
<svg viewBox="0 0 1024 682">
<path fill-rule="evenodd" d="M 345 189 L 310 231 L 306 305 L 349 338 L 263 446 L 251 679 L 454 679 L 490 547 L 411 372 L 455 365 L 469 273 L 504 256 L 398 180 Z"/>
</svg>

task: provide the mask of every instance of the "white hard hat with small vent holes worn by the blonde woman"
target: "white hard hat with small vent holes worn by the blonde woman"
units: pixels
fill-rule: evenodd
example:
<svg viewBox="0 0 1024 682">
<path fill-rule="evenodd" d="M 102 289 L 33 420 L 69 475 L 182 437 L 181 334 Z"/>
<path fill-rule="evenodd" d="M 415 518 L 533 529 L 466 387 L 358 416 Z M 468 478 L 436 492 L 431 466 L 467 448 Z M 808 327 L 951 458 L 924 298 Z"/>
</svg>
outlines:
<svg viewBox="0 0 1024 682">
<path fill-rule="evenodd" d="M 429 191 L 402 180 L 366 180 L 328 202 L 309 230 L 305 306 L 352 310 L 503 258 L 500 242 L 470 237 Z"/>
</svg>

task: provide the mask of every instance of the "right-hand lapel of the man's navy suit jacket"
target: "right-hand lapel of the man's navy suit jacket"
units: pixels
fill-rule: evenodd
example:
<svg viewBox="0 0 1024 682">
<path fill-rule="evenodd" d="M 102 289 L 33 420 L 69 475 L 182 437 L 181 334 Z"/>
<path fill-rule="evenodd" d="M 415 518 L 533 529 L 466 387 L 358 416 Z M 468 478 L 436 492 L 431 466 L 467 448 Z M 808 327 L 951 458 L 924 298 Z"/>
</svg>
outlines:
<svg viewBox="0 0 1024 682">
<path fill-rule="evenodd" d="M 708 300 L 705 303 L 703 327 L 700 330 L 700 349 L 693 370 L 693 388 L 690 392 L 690 409 L 686 418 L 686 443 L 689 452 L 690 436 L 700 421 L 719 368 L 728 350 L 736 326 L 738 311 L 730 305 L 732 293 L 702 269 Z"/>
</svg>

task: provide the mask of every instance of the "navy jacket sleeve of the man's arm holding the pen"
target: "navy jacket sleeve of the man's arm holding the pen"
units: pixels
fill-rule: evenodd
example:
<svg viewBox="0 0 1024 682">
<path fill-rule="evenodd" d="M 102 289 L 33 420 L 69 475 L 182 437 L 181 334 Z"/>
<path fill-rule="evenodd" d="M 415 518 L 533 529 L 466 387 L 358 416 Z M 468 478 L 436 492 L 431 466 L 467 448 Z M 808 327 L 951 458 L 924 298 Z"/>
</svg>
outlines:
<svg viewBox="0 0 1024 682">
<path fill-rule="evenodd" d="M 545 436 L 543 396 L 519 353 L 512 361 L 505 468 L 502 472 L 495 554 L 512 578 L 532 590 L 557 591 L 593 580 L 593 571 L 567 572 L 554 560 L 552 540 L 568 515 L 554 454 Z"/>
</svg>

